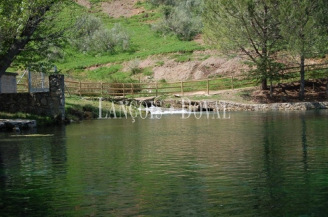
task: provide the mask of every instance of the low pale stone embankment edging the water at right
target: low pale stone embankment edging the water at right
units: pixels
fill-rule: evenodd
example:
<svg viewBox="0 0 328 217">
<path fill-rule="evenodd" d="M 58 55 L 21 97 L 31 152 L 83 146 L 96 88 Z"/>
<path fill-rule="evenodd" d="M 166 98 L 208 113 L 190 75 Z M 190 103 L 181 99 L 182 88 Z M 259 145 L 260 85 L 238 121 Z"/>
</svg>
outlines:
<svg viewBox="0 0 328 217">
<path fill-rule="evenodd" d="M 174 109 L 184 108 L 194 111 L 209 109 L 210 111 L 296 111 L 328 109 L 328 102 L 284 102 L 274 104 L 241 104 L 230 101 L 189 101 L 189 100 L 170 100 L 161 101 L 161 106 Z M 155 103 L 159 106 L 159 103 Z"/>
</svg>

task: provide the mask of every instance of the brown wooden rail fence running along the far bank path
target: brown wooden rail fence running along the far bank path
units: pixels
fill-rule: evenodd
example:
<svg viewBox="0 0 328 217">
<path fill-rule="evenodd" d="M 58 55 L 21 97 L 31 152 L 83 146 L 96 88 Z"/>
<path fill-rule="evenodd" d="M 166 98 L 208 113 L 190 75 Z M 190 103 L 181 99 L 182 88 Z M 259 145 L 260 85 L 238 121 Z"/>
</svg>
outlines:
<svg viewBox="0 0 328 217">
<path fill-rule="evenodd" d="M 307 79 L 327 78 L 328 67 L 322 65 L 306 65 Z M 27 86 L 26 80 L 20 79 L 19 86 Z M 299 81 L 299 67 L 286 68 L 273 83 Z M 202 91 L 210 94 L 214 90 L 234 90 L 258 86 L 260 81 L 249 79 L 244 75 L 221 77 L 216 79 L 203 79 L 197 81 L 177 81 L 166 83 L 94 83 L 81 81 L 65 81 L 65 92 L 68 95 L 94 96 L 94 97 L 149 97 L 163 94 L 179 94 Z M 24 88 L 17 91 L 24 91 Z M 26 90 L 25 90 L 26 92 Z"/>
</svg>

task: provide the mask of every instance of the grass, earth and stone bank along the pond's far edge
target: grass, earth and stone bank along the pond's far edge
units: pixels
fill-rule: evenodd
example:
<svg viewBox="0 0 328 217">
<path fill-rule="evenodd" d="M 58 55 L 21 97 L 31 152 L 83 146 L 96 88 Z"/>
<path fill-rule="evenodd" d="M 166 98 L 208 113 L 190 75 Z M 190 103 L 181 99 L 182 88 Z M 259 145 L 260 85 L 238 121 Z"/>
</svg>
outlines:
<svg viewBox="0 0 328 217">
<path fill-rule="evenodd" d="M 241 90 L 220 90 L 214 95 L 204 93 L 189 93 L 188 95 L 164 95 L 160 97 L 140 97 L 134 99 L 136 102 L 147 102 L 147 106 L 161 106 L 163 108 L 189 109 L 191 111 L 295 111 L 328 109 L 328 100 L 325 83 L 322 80 L 307 83 L 305 102 L 297 99 L 297 83 L 280 84 L 274 86 L 272 97 L 269 90 L 259 88 L 244 88 Z M 99 109 L 103 116 L 120 114 L 120 102 L 128 99 L 104 98 L 101 103 L 98 97 L 66 97 L 65 123 L 79 120 L 99 118 Z M 129 99 L 130 101 L 132 99 Z M 114 103 L 112 103 L 114 102 Z M 145 105 L 145 104 L 143 104 Z M 114 106 L 114 109 L 113 109 Z M 139 107 L 137 104 L 132 109 Z M 47 116 L 31 115 L 27 113 L 4 113 L 0 112 L 0 119 L 22 119 L 36 120 L 37 127 L 45 127 L 54 124 L 63 124 L 57 118 Z"/>
</svg>

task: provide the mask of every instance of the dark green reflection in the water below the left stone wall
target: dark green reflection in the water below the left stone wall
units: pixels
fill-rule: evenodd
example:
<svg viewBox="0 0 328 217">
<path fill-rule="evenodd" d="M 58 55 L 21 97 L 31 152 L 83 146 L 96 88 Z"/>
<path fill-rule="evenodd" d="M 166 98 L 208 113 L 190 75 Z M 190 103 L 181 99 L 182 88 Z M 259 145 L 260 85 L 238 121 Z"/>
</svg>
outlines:
<svg viewBox="0 0 328 217">
<path fill-rule="evenodd" d="M 56 209 L 55 189 L 66 177 L 64 131 L 57 132 L 58 136 L 1 141 L 1 215 L 49 216 Z"/>
</svg>

